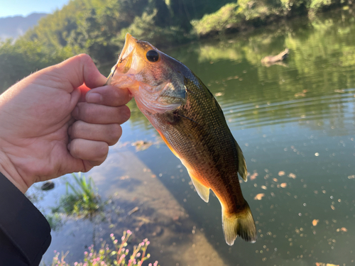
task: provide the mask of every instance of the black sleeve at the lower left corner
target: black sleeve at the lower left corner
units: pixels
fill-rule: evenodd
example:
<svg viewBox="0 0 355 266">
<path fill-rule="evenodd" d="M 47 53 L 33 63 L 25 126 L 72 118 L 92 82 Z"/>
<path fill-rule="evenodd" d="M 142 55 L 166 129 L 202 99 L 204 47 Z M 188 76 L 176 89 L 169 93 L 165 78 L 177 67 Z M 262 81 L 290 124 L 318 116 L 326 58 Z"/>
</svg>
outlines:
<svg viewBox="0 0 355 266">
<path fill-rule="evenodd" d="M 0 173 L 0 265 L 39 265 L 51 240 L 45 217 Z"/>
</svg>

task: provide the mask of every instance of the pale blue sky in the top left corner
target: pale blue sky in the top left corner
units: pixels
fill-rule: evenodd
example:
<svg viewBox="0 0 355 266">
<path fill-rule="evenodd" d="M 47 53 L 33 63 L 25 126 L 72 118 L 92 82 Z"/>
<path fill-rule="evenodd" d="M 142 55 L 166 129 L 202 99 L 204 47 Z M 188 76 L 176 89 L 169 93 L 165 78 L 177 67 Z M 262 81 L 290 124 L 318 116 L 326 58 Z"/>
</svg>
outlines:
<svg viewBox="0 0 355 266">
<path fill-rule="evenodd" d="M 28 16 L 31 13 L 53 13 L 69 0 L 0 0 L 0 18 L 5 16 Z"/>
</svg>

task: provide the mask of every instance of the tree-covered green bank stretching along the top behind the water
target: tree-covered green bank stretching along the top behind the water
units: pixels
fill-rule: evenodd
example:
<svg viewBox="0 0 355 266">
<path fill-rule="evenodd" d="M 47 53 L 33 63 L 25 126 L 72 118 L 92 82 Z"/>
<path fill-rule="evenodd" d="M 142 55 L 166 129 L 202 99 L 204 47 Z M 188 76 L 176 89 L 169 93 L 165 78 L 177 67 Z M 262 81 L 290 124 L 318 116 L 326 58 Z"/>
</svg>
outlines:
<svg viewBox="0 0 355 266">
<path fill-rule="evenodd" d="M 0 90 L 85 52 L 114 62 L 126 32 L 158 48 L 351 5 L 349 0 L 72 0 L 21 38 L 0 40 Z"/>
</svg>

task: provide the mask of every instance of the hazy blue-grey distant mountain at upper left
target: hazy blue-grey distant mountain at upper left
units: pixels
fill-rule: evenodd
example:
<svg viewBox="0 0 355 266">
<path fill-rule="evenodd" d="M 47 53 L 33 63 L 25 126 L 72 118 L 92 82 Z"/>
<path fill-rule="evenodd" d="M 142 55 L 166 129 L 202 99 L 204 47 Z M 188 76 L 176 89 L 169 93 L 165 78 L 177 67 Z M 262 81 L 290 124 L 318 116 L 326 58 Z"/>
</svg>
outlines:
<svg viewBox="0 0 355 266">
<path fill-rule="evenodd" d="M 18 38 L 23 35 L 28 28 L 35 26 L 38 20 L 43 16 L 47 16 L 46 13 L 31 13 L 30 15 L 23 16 L 9 16 L 6 18 L 0 18 L 0 39 L 6 38 Z"/>
</svg>

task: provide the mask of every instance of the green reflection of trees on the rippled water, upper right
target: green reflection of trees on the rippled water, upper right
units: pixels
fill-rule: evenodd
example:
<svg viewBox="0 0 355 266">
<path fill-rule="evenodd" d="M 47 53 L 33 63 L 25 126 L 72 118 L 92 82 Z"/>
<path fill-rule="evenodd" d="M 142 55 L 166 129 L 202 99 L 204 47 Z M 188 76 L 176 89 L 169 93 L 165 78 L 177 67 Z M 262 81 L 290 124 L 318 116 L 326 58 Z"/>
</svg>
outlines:
<svg viewBox="0 0 355 266">
<path fill-rule="evenodd" d="M 353 21 L 344 13 L 327 14 L 322 20 L 295 21 L 276 31 L 200 43 L 188 53 L 182 48 L 170 54 L 213 94 L 222 92 L 217 100 L 231 126 L 295 121 L 343 135 L 351 130 L 346 119 L 355 118 L 349 111 L 354 89 L 346 90 L 355 86 Z M 285 47 L 290 49 L 288 67 L 261 66 L 264 56 Z"/>
</svg>

